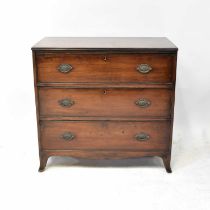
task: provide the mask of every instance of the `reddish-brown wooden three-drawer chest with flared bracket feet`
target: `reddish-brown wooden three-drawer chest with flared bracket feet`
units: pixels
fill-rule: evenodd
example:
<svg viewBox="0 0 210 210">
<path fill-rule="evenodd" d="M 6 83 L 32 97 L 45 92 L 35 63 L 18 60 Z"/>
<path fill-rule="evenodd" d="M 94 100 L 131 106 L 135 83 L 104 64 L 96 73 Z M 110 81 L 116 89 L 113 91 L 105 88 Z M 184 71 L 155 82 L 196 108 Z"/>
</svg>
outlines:
<svg viewBox="0 0 210 210">
<path fill-rule="evenodd" d="M 167 38 L 34 45 L 39 171 L 50 156 L 159 156 L 171 172 L 177 50 Z"/>
</svg>

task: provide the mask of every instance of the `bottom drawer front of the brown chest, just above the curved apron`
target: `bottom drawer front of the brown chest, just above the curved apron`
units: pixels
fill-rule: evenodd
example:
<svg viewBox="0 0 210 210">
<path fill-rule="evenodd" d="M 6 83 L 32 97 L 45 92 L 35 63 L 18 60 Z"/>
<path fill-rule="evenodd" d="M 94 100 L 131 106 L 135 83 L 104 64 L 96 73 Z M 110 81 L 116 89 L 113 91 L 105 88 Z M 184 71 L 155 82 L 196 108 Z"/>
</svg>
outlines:
<svg viewBox="0 0 210 210">
<path fill-rule="evenodd" d="M 169 146 L 170 123 L 42 121 L 42 149 L 161 149 Z"/>
</svg>

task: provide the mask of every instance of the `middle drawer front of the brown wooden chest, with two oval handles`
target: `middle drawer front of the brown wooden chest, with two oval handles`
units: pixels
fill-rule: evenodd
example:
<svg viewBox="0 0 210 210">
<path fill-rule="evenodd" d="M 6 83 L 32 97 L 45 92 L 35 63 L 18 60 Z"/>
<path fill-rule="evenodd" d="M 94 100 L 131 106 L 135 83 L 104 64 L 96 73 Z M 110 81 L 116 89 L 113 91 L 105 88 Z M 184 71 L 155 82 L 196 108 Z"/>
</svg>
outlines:
<svg viewBox="0 0 210 210">
<path fill-rule="evenodd" d="M 40 88 L 41 116 L 170 117 L 170 89 Z"/>
</svg>

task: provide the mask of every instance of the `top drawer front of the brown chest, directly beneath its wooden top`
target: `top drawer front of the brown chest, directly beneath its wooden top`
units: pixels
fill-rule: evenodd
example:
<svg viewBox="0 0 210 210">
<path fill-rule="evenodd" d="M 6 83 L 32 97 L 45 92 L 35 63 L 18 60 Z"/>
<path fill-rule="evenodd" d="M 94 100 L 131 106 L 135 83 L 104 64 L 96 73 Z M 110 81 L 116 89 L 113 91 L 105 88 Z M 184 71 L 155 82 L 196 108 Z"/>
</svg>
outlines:
<svg viewBox="0 0 210 210">
<path fill-rule="evenodd" d="M 38 82 L 171 82 L 172 58 L 163 54 L 38 54 Z"/>
</svg>

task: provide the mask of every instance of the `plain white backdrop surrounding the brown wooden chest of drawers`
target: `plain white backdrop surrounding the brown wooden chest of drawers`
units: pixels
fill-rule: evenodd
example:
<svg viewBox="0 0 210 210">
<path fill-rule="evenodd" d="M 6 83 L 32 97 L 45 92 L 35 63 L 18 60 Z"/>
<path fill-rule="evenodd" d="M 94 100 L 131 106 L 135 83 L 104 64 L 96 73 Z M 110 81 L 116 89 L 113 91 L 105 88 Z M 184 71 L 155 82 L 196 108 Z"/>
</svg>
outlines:
<svg viewBox="0 0 210 210">
<path fill-rule="evenodd" d="M 208 168 L 205 163 L 210 163 L 207 158 L 210 157 L 209 20 L 208 0 L 1 1 L 0 194 L 5 201 L 0 204 L 5 205 L 1 209 L 12 209 L 13 205 L 26 209 L 33 201 L 34 208 L 50 205 L 51 209 L 66 209 L 64 207 L 69 201 L 69 206 L 72 204 L 75 209 L 86 208 L 86 204 L 93 209 L 97 209 L 98 205 L 102 209 L 111 206 L 138 209 L 141 202 L 146 209 L 150 195 L 153 197 L 153 194 L 161 193 L 164 197 L 153 197 L 155 200 L 149 202 L 148 209 L 154 209 L 154 205 L 156 209 L 168 209 L 169 206 L 163 207 L 164 202 L 168 202 L 167 205 L 171 202 L 177 207 L 177 201 L 182 203 L 180 209 L 196 209 L 198 206 L 199 209 L 208 209 L 210 183 L 203 168 Z M 146 168 L 144 162 L 144 167 L 132 167 L 128 171 L 120 167 L 111 171 L 91 167 L 58 169 L 52 164 L 51 169 L 43 174 L 37 173 L 38 146 L 30 48 L 44 36 L 166 36 L 178 46 L 172 157 L 174 173 L 170 177 L 160 172 L 161 168 Z M 60 161 L 61 165 L 68 165 L 64 160 Z M 149 163 L 155 168 L 155 164 Z M 159 165 L 162 167 L 161 163 Z M 129 176 L 133 181 L 129 182 Z M 190 176 L 194 178 L 189 180 Z M 106 180 L 109 180 L 108 183 L 104 182 Z M 186 188 L 177 188 L 177 184 L 185 186 L 184 183 L 187 183 Z M 165 189 L 169 186 L 171 191 Z M 62 190 L 65 191 L 63 197 Z M 189 194 L 192 191 L 197 193 L 197 199 Z M 22 200 L 24 196 L 27 199 L 25 203 Z M 14 203 L 9 198 L 14 199 Z M 133 198 L 141 201 L 136 203 Z M 191 200 L 191 204 L 187 199 Z"/>
</svg>

